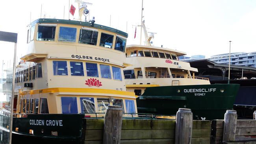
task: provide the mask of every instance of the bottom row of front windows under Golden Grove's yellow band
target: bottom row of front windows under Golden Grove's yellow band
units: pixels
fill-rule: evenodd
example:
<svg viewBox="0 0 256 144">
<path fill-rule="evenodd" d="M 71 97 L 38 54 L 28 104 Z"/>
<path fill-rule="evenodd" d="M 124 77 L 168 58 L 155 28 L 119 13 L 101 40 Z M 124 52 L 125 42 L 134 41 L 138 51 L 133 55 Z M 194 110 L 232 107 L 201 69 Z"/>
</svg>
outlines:
<svg viewBox="0 0 256 144">
<path fill-rule="evenodd" d="M 110 105 L 109 98 L 96 98 L 98 105 L 97 113 L 105 113 Z M 122 99 L 113 99 L 113 105 L 121 106 L 124 113 L 124 104 Z M 126 112 L 135 113 L 133 100 L 125 100 Z M 95 99 L 80 97 L 81 113 L 96 113 Z M 78 113 L 76 97 L 61 97 L 61 109 L 63 114 Z"/>
</svg>

